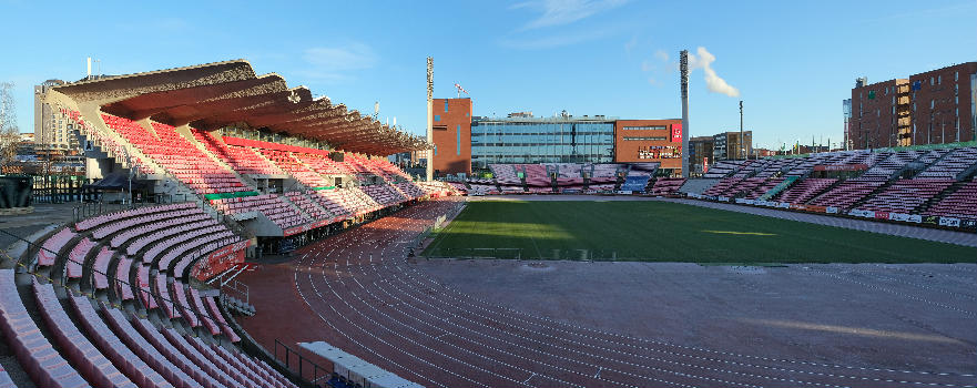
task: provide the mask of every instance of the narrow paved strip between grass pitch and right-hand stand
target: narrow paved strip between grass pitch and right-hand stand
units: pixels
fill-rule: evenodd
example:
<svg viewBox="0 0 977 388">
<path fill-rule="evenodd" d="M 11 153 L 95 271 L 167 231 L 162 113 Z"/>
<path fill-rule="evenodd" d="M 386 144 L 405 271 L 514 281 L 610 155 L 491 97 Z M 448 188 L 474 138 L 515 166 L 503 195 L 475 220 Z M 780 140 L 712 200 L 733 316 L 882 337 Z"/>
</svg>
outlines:
<svg viewBox="0 0 977 388">
<path fill-rule="evenodd" d="M 723 211 L 750 213 L 763 215 L 767 217 L 777 217 L 784 219 L 800 221 L 818 225 L 837 226 L 848 229 L 866 231 L 874 233 L 888 234 L 893 236 L 903 236 L 910 238 L 928 239 L 934 242 L 949 243 L 964 246 L 977 247 L 977 233 L 954 232 L 945 229 L 936 229 L 923 226 L 912 226 L 902 224 L 882 223 L 875 221 L 853 219 L 847 217 L 836 217 L 830 215 L 820 215 L 801 212 L 788 212 L 776 208 L 742 206 L 734 204 L 724 204 L 718 202 L 679 200 L 679 198 L 659 198 L 659 201 L 668 201 L 686 205 L 719 208 Z"/>
</svg>

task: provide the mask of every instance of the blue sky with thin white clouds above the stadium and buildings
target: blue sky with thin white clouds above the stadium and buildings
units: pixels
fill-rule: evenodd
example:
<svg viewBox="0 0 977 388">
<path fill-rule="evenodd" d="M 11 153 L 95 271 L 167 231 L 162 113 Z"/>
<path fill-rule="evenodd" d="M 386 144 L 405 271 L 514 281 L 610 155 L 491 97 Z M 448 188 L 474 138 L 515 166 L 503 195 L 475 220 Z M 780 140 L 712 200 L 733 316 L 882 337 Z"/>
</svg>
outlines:
<svg viewBox="0 0 977 388">
<path fill-rule="evenodd" d="M 977 60 L 975 20 L 973 0 L 0 0 L 0 82 L 17 84 L 28 132 L 31 85 L 84 76 L 85 57 L 105 74 L 243 58 L 364 112 L 379 101 L 380 120 L 423 133 L 428 55 L 435 96 L 455 96 L 459 82 L 476 115 L 660 119 L 681 116 L 678 52 L 703 48 L 690 76 L 691 134 L 737 129 L 742 99 L 757 146 L 774 147 L 838 142 L 856 76 L 877 82 Z M 739 96 L 727 95 L 733 89 Z"/>
</svg>

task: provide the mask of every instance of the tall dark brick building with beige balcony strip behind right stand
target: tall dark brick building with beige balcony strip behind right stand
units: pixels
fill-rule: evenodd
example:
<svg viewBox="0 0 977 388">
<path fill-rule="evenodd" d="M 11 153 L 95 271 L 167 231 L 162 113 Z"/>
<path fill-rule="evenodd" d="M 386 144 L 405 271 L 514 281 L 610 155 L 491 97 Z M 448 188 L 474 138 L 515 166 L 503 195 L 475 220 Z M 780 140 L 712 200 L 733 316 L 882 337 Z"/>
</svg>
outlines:
<svg viewBox="0 0 977 388">
<path fill-rule="evenodd" d="M 846 143 L 864 150 L 977 140 L 977 62 L 868 84 L 859 78 Z"/>
</svg>

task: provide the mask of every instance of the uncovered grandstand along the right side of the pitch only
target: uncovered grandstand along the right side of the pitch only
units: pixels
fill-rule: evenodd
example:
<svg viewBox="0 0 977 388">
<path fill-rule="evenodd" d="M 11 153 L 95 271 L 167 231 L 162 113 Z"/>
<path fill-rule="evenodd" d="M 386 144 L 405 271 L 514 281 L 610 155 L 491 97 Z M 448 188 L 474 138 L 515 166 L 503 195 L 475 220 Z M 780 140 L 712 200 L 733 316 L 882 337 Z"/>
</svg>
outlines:
<svg viewBox="0 0 977 388">
<path fill-rule="evenodd" d="M 710 170 L 709 201 L 977 231 L 977 144 L 838 151 Z M 719 164 L 718 164 L 719 166 Z"/>
</svg>

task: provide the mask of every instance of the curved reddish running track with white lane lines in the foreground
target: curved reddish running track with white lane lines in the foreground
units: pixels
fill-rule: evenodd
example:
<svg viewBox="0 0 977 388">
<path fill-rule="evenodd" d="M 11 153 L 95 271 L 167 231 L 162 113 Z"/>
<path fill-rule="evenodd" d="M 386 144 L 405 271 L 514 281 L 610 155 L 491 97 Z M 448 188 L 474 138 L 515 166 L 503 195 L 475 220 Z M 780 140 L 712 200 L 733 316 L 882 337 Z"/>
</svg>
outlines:
<svg viewBox="0 0 977 388">
<path fill-rule="evenodd" d="M 974 387 L 973 374 L 894 370 L 632 338 L 517 312 L 438 284 L 406 246 L 459 198 L 425 202 L 244 276 L 265 347 L 326 340 L 426 387 Z M 831 266 L 818 269 L 838 276 Z M 288 292 L 291 290 L 291 292 Z M 265 302 L 262 302 L 265 298 Z M 267 303 L 268 300 L 273 300 Z M 940 306 L 924 306 L 940 308 Z M 974 319 L 974 313 L 959 313 Z"/>
</svg>

